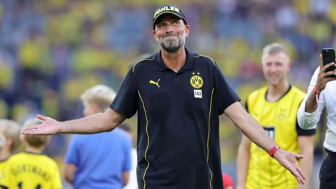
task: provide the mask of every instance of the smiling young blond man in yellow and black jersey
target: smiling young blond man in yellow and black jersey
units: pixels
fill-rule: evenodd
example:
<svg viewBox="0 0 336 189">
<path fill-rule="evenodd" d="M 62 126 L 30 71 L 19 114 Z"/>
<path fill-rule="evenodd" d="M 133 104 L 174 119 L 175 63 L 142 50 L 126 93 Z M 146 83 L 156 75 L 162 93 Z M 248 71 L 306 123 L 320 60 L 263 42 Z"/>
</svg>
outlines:
<svg viewBox="0 0 336 189">
<path fill-rule="evenodd" d="M 304 185 L 299 186 L 290 172 L 243 135 L 238 150 L 237 188 L 307 188 L 313 163 L 315 130 L 302 130 L 297 125 L 296 113 L 304 92 L 288 81 L 290 59 L 283 45 L 272 43 L 265 46 L 261 62 L 267 86 L 248 96 L 246 109 L 280 148 L 304 155 L 300 167 L 307 179 Z"/>
</svg>

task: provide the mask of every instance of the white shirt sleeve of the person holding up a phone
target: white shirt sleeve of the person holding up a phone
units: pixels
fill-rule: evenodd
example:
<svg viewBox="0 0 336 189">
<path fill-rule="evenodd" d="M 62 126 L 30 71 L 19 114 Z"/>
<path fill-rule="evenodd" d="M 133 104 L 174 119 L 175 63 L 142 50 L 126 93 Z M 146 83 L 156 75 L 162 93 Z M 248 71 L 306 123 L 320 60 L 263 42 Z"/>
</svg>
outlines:
<svg viewBox="0 0 336 189">
<path fill-rule="evenodd" d="M 304 130 L 316 128 L 316 124 L 318 123 L 318 120 L 320 119 L 321 113 L 325 106 L 322 91 L 318 98 L 318 107 L 316 111 L 314 111 L 313 113 L 307 113 L 305 111 L 307 98 L 309 97 L 309 94 L 314 90 L 314 86 L 316 84 L 318 76 L 318 71 L 319 67 L 315 70 L 314 75 L 311 77 L 306 97 L 304 97 L 304 100 L 301 102 L 300 107 L 297 111 L 297 123 Z"/>
</svg>

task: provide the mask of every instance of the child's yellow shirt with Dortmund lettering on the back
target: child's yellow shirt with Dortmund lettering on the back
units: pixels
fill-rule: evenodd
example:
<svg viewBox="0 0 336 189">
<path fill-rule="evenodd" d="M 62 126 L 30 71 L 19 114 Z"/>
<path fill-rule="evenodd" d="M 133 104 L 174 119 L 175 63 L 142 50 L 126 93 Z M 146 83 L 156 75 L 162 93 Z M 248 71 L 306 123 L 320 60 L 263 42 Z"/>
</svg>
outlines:
<svg viewBox="0 0 336 189">
<path fill-rule="evenodd" d="M 54 160 L 36 153 L 18 153 L 7 162 L 5 186 L 19 189 L 62 188 Z"/>
</svg>

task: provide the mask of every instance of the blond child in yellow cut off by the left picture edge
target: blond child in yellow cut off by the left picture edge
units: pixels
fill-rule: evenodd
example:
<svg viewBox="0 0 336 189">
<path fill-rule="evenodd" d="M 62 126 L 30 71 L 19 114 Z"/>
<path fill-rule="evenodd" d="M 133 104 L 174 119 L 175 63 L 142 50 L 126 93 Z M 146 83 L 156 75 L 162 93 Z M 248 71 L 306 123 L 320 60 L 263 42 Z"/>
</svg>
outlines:
<svg viewBox="0 0 336 189">
<path fill-rule="evenodd" d="M 21 126 L 12 120 L 0 120 L 0 134 L 3 136 L 3 145 L 0 150 L 0 188 L 5 188 L 3 181 L 5 179 L 5 166 L 8 158 L 20 146 Z"/>
</svg>

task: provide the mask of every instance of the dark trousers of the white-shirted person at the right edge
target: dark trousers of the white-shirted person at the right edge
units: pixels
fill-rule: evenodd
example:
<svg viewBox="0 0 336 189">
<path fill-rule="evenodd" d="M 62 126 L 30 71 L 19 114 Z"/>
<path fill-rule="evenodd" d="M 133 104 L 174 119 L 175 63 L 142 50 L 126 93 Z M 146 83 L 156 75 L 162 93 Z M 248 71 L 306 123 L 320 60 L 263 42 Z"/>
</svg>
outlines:
<svg viewBox="0 0 336 189">
<path fill-rule="evenodd" d="M 336 153 L 327 151 L 320 169 L 320 189 L 336 189 Z"/>
</svg>

